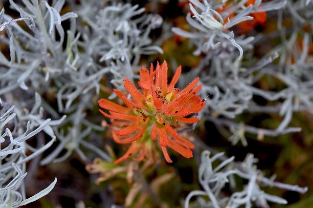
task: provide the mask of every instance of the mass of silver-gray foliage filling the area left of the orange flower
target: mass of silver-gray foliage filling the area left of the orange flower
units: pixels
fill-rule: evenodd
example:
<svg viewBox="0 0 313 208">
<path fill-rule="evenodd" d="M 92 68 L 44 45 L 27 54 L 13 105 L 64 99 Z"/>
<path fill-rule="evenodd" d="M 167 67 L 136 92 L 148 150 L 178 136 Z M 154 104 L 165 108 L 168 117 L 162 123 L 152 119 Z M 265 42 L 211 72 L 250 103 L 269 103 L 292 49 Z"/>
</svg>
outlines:
<svg viewBox="0 0 313 208">
<path fill-rule="evenodd" d="M 115 0 L 82 0 L 80 5 L 68 1 L 73 11 L 61 15 L 65 0 L 52 0 L 51 5 L 46 0 L 9 3 L 20 18 L 0 10 L 0 99 L 15 105 L 14 113 L 10 109 L 0 121 L 1 143 L 10 141 L 1 149 L 0 207 L 22 206 L 54 187 L 56 180 L 25 199 L 26 162 L 56 140 L 40 165 L 62 162 L 73 152 L 84 160 L 89 152 L 111 160 L 90 142 L 101 143 L 97 132 L 104 130 L 100 117 L 88 116 L 98 99 L 101 79 L 106 74 L 109 86 L 121 88 L 125 76 L 134 80 L 142 54 L 162 52 L 149 37 L 162 18 L 144 15 L 144 9 L 136 5 Z M 8 50 L 9 56 L 4 54 Z M 14 123 L 12 133 L 9 128 L 2 132 L 8 122 Z M 43 144 L 41 130 L 52 138 L 50 142 L 38 148 L 28 146 L 25 141 L 30 137 Z M 32 154 L 26 156 L 26 149 Z"/>
</svg>

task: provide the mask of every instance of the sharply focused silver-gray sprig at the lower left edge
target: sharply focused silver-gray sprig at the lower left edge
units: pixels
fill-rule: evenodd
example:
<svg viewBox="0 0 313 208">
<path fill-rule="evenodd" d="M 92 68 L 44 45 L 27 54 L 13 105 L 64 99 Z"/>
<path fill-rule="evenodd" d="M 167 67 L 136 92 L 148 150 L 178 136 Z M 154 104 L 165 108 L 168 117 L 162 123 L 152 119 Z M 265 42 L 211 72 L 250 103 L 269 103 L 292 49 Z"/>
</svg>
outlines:
<svg viewBox="0 0 313 208">
<path fill-rule="evenodd" d="M 18 116 L 14 106 L 9 107 L 6 102 L 0 102 L 0 107 L 0 207 L 20 207 L 48 194 L 57 182 L 55 179 L 44 190 L 26 199 L 24 186 L 27 175 L 26 163 L 49 148 L 55 136 L 53 131 L 50 131 L 51 119 L 46 119 L 40 124 L 28 121 L 24 130 L 24 126 L 19 124 L 25 123 L 25 120 Z M 29 146 L 27 140 L 42 134 L 42 131 L 50 135 L 50 142 L 39 147 Z"/>
</svg>

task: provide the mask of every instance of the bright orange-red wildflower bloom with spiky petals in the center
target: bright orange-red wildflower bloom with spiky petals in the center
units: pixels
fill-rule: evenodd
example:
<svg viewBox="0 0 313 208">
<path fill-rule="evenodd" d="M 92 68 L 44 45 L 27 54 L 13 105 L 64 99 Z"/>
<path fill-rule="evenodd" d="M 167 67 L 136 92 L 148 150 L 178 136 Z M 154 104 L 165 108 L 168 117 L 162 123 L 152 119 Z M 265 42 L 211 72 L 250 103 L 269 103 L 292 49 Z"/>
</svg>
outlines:
<svg viewBox="0 0 313 208">
<path fill-rule="evenodd" d="M 167 152 L 167 146 L 177 151 L 186 158 L 192 157 L 191 148 L 194 145 L 185 138 L 179 136 L 175 130 L 180 123 L 196 123 L 197 117 L 186 118 L 186 116 L 198 113 L 204 107 L 204 100 L 201 101 L 196 95 L 202 84 L 197 85 L 199 78 L 189 83 L 181 91 L 175 88 L 179 80 L 181 67 L 179 66 L 172 81 L 167 82 L 167 63 L 157 63 L 154 70 L 151 64 L 150 71 L 141 67 L 138 90 L 128 80 L 124 80 L 124 86 L 132 99 L 128 99 L 121 91 L 114 89 L 115 94 L 125 103 L 126 106 L 115 104 L 107 99 L 99 100 L 99 105 L 109 110 L 106 113 L 100 112 L 112 119 L 112 137 L 116 143 L 131 144 L 127 152 L 115 161 L 119 163 L 131 155 L 141 151 L 141 161 L 145 157 L 145 151 L 151 151 L 158 144 L 167 162 L 171 159 Z M 156 143 L 157 141 L 157 143 Z"/>
</svg>

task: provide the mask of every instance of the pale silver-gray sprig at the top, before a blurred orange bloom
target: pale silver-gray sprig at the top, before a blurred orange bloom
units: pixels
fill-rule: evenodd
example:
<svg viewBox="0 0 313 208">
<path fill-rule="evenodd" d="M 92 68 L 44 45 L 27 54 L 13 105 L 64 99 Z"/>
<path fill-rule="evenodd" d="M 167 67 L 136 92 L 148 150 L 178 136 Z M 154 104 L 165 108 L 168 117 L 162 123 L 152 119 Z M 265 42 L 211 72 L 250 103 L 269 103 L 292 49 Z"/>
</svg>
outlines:
<svg viewBox="0 0 313 208">
<path fill-rule="evenodd" d="M 194 15 L 191 17 L 189 13 L 186 20 L 194 31 L 187 32 L 177 27 L 173 28 L 173 32 L 193 40 L 197 46 L 197 50 L 194 52 L 195 55 L 200 55 L 202 52 L 209 53 L 223 43 L 222 47 L 224 48 L 237 48 L 239 50 L 238 59 L 240 60 L 244 54 L 243 47 L 251 48 L 249 43 L 253 41 L 254 37 L 235 37 L 233 31 L 229 31 L 229 29 L 242 21 L 253 20 L 253 17 L 249 16 L 250 13 L 276 10 L 286 3 L 285 1 L 271 2 L 270 5 L 262 4 L 263 7 L 259 8 L 261 0 L 257 0 L 255 4 L 247 7 L 244 6 L 246 0 L 240 0 L 233 7 L 220 14 L 216 9 L 222 8 L 225 2 L 224 0 L 204 0 L 203 2 L 190 0 L 190 9 Z M 200 12 L 197 11 L 194 5 Z M 228 18 L 227 22 L 224 22 L 229 14 L 235 11 L 237 14 L 231 20 Z"/>
</svg>

